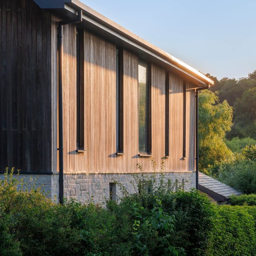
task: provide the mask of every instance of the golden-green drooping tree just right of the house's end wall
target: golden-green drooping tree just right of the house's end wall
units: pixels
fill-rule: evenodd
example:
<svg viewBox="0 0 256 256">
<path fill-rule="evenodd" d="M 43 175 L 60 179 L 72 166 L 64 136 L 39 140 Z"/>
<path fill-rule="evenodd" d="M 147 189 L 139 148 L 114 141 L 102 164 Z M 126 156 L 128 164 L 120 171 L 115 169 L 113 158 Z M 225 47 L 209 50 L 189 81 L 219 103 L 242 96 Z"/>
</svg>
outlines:
<svg viewBox="0 0 256 256">
<path fill-rule="evenodd" d="M 232 157 L 224 142 L 232 124 L 232 107 L 217 94 L 204 90 L 199 94 L 199 167 L 201 169 Z"/>
</svg>

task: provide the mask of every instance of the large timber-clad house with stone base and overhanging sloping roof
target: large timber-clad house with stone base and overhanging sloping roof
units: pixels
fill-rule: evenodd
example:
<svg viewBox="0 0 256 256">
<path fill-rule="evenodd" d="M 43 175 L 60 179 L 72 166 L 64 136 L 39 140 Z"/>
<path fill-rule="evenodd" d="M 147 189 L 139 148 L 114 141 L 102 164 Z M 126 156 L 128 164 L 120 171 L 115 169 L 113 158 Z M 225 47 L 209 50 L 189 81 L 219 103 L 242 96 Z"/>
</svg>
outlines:
<svg viewBox="0 0 256 256">
<path fill-rule="evenodd" d="M 198 91 L 213 82 L 78 0 L 0 0 L 0 76 L 2 173 L 101 202 L 153 156 L 196 187 Z"/>
</svg>

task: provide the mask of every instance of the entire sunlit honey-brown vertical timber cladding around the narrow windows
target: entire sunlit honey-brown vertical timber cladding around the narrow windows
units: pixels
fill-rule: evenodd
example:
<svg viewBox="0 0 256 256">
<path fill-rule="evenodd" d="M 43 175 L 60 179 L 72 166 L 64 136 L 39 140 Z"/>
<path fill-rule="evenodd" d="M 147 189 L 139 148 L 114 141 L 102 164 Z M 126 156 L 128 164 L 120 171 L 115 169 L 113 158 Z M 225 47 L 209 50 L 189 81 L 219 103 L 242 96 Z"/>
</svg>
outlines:
<svg viewBox="0 0 256 256">
<path fill-rule="evenodd" d="M 85 153 L 76 153 L 75 26 L 64 27 L 64 171 L 136 172 L 139 162 L 151 171 L 151 160 L 138 156 L 138 57 L 123 51 L 124 153 L 116 156 L 116 46 L 84 31 Z M 68 39 L 67 39 L 68 38 Z M 73 72 L 72 72 L 73 70 Z M 165 156 L 166 71 L 151 65 L 152 155 L 160 169 Z M 195 95 L 187 85 L 186 150 L 182 160 L 183 81 L 169 74 L 169 158 L 166 171 L 193 171 L 195 163 Z M 191 104 L 191 106 L 190 106 Z"/>
</svg>

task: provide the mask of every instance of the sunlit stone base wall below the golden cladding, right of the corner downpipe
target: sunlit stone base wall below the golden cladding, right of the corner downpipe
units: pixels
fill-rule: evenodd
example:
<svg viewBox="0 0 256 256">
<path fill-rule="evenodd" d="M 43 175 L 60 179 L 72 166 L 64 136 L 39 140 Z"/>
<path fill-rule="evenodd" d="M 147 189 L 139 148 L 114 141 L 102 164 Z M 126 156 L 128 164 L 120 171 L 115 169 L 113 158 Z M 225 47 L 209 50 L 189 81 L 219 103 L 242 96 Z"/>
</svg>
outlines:
<svg viewBox="0 0 256 256">
<path fill-rule="evenodd" d="M 152 175 L 152 174 L 144 174 Z M 165 173 L 165 181 L 168 179 L 173 183 L 178 181 L 184 189 L 196 187 L 196 172 L 171 172 Z M 156 180 L 159 181 L 160 174 L 156 174 Z M 82 203 L 102 203 L 105 198 L 110 196 L 110 183 L 120 182 L 129 193 L 137 193 L 133 184 L 136 184 L 132 174 L 64 174 L 64 196 L 68 199 L 74 198 Z M 116 185 L 116 196 L 122 196 L 121 189 Z"/>
</svg>

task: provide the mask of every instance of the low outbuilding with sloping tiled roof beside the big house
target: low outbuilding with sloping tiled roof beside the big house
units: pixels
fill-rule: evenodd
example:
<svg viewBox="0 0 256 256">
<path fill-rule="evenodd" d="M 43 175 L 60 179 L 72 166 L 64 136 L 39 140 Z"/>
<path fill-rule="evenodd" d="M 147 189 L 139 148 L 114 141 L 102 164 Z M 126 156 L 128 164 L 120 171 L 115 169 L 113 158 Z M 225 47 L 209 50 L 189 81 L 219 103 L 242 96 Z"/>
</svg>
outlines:
<svg viewBox="0 0 256 256">
<path fill-rule="evenodd" d="M 214 203 L 226 204 L 230 196 L 240 196 L 242 192 L 199 172 L 199 191 L 205 193 Z"/>
</svg>

